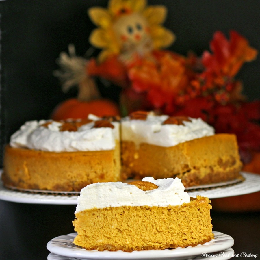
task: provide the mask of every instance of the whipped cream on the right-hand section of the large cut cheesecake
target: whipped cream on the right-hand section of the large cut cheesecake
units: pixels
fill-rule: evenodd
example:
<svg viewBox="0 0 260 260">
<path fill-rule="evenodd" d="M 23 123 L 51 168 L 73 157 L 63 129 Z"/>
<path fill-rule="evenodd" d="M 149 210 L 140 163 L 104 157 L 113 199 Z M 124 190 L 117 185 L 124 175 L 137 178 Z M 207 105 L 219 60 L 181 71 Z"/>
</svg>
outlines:
<svg viewBox="0 0 260 260">
<path fill-rule="evenodd" d="M 201 118 L 189 118 L 183 125 L 163 124 L 169 116 L 157 116 L 150 112 L 146 120 L 122 118 L 122 140 L 133 141 L 136 145 L 148 143 L 170 147 L 204 136 L 214 135 L 214 128 Z"/>
</svg>

